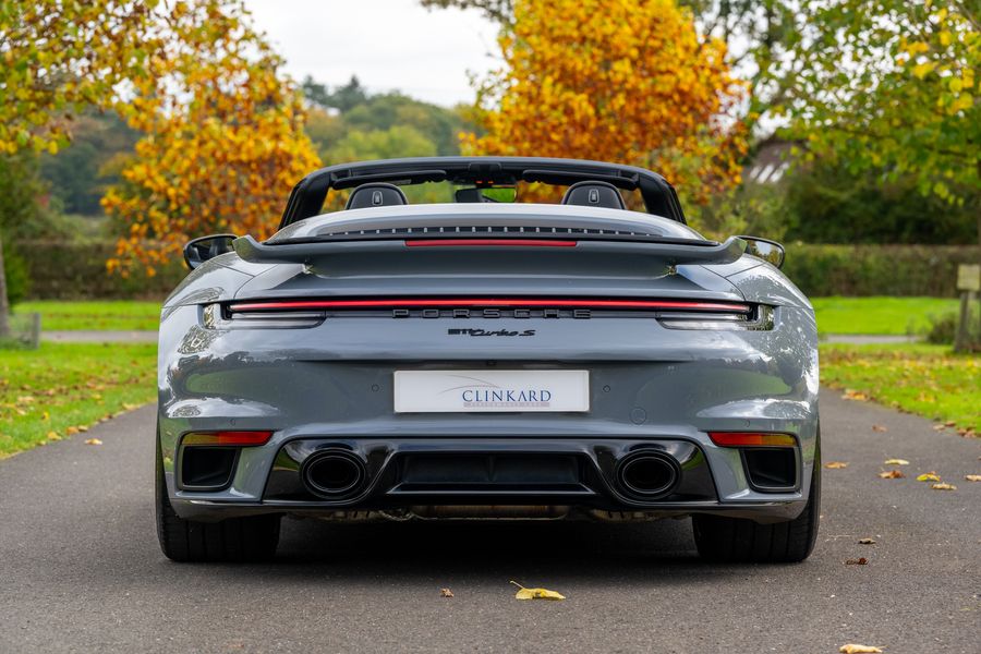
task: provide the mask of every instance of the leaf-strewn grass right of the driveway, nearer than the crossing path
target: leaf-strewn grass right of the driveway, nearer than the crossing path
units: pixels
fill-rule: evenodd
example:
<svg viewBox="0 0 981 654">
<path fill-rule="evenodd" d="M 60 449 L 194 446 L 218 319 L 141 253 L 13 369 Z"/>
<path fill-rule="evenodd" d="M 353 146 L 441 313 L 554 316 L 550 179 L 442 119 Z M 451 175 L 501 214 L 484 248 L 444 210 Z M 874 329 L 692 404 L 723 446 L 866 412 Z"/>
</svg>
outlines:
<svg viewBox="0 0 981 654">
<path fill-rule="evenodd" d="M 821 346 L 821 383 L 981 432 L 981 356 L 946 346 Z"/>
</svg>

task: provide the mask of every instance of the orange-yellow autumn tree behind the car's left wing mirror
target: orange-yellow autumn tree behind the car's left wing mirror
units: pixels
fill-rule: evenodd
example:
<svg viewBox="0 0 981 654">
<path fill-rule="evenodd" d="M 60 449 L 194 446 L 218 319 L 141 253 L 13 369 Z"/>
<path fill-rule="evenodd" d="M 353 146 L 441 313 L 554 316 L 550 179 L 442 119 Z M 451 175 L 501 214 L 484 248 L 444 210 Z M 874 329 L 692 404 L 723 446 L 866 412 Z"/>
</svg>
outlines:
<svg viewBox="0 0 981 654">
<path fill-rule="evenodd" d="M 153 275 L 195 235 L 268 237 L 290 187 L 319 164 L 301 96 L 240 2 L 179 2 L 156 38 L 152 74 L 121 107 L 145 136 L 102 201 L 126 226 L 109 262 L 124 275 Z"/>
</svg>

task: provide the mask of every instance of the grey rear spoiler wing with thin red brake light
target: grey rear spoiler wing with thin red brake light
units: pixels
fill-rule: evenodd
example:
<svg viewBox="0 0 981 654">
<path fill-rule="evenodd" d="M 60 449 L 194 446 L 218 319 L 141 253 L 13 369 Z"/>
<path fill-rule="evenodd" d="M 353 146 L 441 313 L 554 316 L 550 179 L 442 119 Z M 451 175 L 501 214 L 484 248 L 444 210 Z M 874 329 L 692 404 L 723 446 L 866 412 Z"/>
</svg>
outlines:
<svg viewBox="0 0 981 654">
<path fill-rule="evenodd" d="M 472 241 L 469 243 L 468 240 Z M 424 242 L 422 242 L 424 241 Z M 395 254 L 410 251 L 455 251 L 494 252 L 502 249 L 548 250 L 574 254 L 630 255 L 656 259 L 669 266 L 686 264 L 731 264 L 746 252 L 747 243 L 738 237 L 729 237 L 724 243 L 674 239 L 667 241 L 637 241 L 582 239 L 561 241 L 565 246 L 548 239 L 453 239 L 439 243 L 439 239 L 371 239 L 308 241 L 299 243 L 261 243 L 252 237 L 234 240 L 235 253 L 251 263 L 263 264 L 306 264 L 312 265 L 332 255 L 350 254 Z M 448 240 L 447 240 L 448 241 Z M 512 242 L 508 242 L 512 241 Z M 412 245 L 451 245 L 441 247 L 413 247 Z"/>
</svg>

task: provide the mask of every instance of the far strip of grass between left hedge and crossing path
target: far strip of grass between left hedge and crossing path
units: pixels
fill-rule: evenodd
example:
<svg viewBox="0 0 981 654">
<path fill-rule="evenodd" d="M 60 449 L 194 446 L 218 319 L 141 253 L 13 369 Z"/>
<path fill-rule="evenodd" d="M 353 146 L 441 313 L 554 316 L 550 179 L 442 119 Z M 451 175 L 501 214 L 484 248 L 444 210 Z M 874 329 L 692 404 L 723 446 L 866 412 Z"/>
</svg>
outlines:
<svg viewBox="0 0 981 654">
<path fill-rule="evenodd" d="M 159 302 L 36 300 L 14 307 L 17 314 L 32 312 L 41 315 L 41 330 L 48 331 L 129 331 L 156 329 L 160 324 Z"/>
</svg>

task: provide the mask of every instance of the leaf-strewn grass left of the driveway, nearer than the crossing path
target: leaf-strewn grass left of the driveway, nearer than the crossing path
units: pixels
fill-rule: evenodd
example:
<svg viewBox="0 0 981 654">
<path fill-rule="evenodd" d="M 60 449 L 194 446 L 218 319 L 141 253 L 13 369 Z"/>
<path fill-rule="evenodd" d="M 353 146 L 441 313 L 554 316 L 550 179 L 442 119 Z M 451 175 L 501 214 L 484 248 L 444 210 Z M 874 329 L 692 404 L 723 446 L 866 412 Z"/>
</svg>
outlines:
<svg viewBox="0 0 981 654">
<path fill-rule="evenodd" d="M 153 401 L 156 367 L 156 344 L 0 350 L 0 459 Z"/>
</svg>

